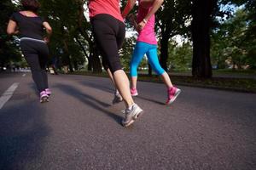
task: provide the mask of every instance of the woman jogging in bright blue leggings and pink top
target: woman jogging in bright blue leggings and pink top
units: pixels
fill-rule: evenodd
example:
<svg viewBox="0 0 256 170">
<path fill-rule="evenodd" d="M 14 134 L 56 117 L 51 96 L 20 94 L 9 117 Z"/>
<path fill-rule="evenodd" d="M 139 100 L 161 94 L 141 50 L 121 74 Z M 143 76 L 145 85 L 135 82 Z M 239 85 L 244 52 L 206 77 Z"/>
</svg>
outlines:
<svg viewBox="0 0 256 170">
<path fill-rule="evenodd" d="M 128 1 L 122 14 L 124 18 L 130 13 L 136 2 L 137 0 Z M 166 105 L 170 105 L 177 98 L 177 95 L 180 94 L 181 90 L 172 85 L 170 77 L 160 66 L 157 56 L 157 41 L 154 33 L 154 13 L 160 8 L 163 0 L 138 0 L 138 3 L 137 21 L 132 15 L 129 17 L 129 20 L 131 20 L 131 23 L 138 31 L 137 43 L 132 54 L 130 65 L 131 95 L 138 95 L 137 66 L 140 64 L 143 56 L 147 54 L 149 64 L 153 70 L 162 77 L 163 82 L 166 84 L 168 95 Z"/>
</svg>

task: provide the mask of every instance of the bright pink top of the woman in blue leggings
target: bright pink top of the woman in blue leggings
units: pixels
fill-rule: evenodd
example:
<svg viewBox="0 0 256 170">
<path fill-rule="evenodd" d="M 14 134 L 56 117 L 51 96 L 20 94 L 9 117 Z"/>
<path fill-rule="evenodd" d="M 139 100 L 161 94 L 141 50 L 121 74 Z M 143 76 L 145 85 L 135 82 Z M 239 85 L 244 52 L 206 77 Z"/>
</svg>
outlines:
<svg viewBox="0 0 256 170">
<path fill-rule="evenodd" d="M 140 3 L 140 0 L 139 0 Z M 143 8 L 139 5 L 138 12 L 137 12 L 137 23 L 140 23 L 143 21 L 145 16 L 148 14 L 148 12 L 151 10 L 151 8 Z M 147 24 L 144 26 L 143 30 L 139 32 L 139 35 L 137 37 L 137 42 L 146 42 L 149 44 L 157 45 L 157 41 L 155 38 L 154 33 L 154 14 L 148 19 Z"/>
</svg>

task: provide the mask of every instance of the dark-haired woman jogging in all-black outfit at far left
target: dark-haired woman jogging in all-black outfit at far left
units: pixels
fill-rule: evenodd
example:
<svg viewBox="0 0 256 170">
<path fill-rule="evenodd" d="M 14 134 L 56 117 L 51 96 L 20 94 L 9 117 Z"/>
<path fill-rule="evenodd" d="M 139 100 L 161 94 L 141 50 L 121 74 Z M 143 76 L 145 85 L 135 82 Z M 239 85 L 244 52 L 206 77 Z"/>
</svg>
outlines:
<svg viewBox="0 0 256 170">
<path fill-rule="evenodd" d="M 24 10 L 11 15 L 7 32 L 9 35 L 18 34 L 20 37 L 20 48 L 27 64 L 32 71 L 32 78 L 37 85 L 40 102 L 48 101 L 51 92 L 48 87 L 48 77 L 45 71 L 49 49 L 51 27 L 49 23 L 37 14 L 40 4 L 37 0 L 21 0 Z M 47 37 L 43 38 L 44 29 Z"/>
</svg>

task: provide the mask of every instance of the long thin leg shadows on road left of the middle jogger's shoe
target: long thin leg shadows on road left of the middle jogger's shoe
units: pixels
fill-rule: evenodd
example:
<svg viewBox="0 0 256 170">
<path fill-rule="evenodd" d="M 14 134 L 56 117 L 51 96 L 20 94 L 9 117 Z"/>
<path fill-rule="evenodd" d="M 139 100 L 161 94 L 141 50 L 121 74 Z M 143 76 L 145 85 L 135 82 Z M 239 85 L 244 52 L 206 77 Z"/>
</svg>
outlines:
<svg viewBox="0 0 256 170">
<path fill-rule="evenodd" d="M 88 95 L 88 94 L 84 94 L 77 88 L 73 88 L 70 85 L 64 85 L 64 84 L 56 84 L 55 88 L 59 88 L 59 89 L 61 89 L 61 91 L 63 93 L 71 95 L 71 96 L 79 99 L 84 104 L 89 105 L 90 107 L 93 107 L 94 109 L 96 109 L 98 111 L 102 111 L 102 113 L 104 113 L 107 116 L 113 118 L 113 120 L 118 122 L 118 123 L 120 123 L 121 120 L 122 120 L 121 116 L 115 115 L 114 113 L 102 108 L 102 107 L 109 107 L 111 105 L 108 105 L 108 104 L 106 104 L 106 103 Z M 94 103 L 94 102 L 96 102 L 99 105 L 102 105 L 102 107 L 99 106 L 99 105 L 96 105 L 96 103 Z"/>
</svg>

